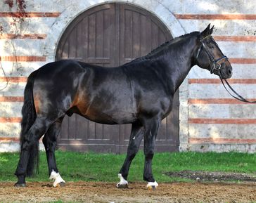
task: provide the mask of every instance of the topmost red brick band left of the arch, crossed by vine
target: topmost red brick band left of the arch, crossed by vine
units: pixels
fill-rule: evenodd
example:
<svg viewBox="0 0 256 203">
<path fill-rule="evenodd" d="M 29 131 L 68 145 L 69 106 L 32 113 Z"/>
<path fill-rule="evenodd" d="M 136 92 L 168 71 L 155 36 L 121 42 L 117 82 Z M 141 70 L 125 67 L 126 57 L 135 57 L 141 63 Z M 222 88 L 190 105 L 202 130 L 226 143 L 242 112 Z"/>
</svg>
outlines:
<svg viewBox="0 0 256 203">
<path fill-rule="evenodd" d="M 18 12 L 0 12 L 0 17 L 19 17 Z M 49 12 L 27 12 L 25 13 L 25 18 L 58 18 L 60 16 L 59 12 L 49 13 Z"/>
</svg>

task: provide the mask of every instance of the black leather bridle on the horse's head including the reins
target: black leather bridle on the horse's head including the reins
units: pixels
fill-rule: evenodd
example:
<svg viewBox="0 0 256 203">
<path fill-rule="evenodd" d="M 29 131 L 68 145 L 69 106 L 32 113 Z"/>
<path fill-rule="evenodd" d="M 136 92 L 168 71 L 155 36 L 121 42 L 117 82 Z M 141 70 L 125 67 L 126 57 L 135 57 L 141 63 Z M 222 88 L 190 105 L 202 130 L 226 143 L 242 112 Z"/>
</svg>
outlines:
<svg viewBox="0 0 256 203">
<path fill-rule="evenodd" d="M 210 35 L 208 35 L 207 37 L 210 37 Z M 238 94 L 229 84 L 229 82 L 226 79 L 222 78 L 222 72 L 220 71 L 223 67 L 222 64 L 223 63 L 219 63 L 220 61 L 226 59 L 228 60 L 229 58 L 226 57 L 226 55 L 223 55 L 222 57 L 218 58 L 217 60 L 215 60 L 215 58 L 213 57 L 212 53 L 210 53 L 210 51 L 207 49 L 207 47 L 205 46 L 205 42 L 203 41 L 204 39 L 206 39 L 207 37 L 204 37 L 203 39 L 200 39 L 201 42 L 201 46 L 200 48 L 198 48 L 198 53 L 196 55 L 196 58 L 198 58 L 200 51 L 204 48 L 205 52 L 207 53 L 208 57 L 210 58 L 210 73 L 212 74 L 215 70 L 219 70 L 219 79 L 222 81 L 222 84 L 224 86 L 224 88 L 226 89 L 226 91 L 233 97 L 236 98 L 237 100 L 240 100 L 241 102 L 244 103 L 256 103 L 256 101 L 249 101 L 247 99 L 245 99 L 243 96 L 241 96 L 240 94 Z M 215 46 L 218 47 L 218 44 L 215 41 L 212 41 Z M 230 93 L 230 91 L 226 88 L 224 81 L 226 82 L 227 86 L 229 86 L 229 89 L 231 89 L 231 91 L 233 91 L 233 93 L 235 93 L 236 96 L 233 96 L 232 93 Z"/>
</svg>

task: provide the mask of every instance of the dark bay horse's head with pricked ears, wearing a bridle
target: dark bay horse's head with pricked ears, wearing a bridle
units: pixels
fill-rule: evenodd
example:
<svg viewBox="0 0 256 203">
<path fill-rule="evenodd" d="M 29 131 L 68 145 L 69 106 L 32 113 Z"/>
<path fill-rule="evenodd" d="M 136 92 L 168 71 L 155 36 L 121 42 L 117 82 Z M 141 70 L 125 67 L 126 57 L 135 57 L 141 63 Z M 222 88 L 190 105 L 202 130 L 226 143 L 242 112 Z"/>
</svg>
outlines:
<svg viewBox="0 0 256 203">
<path fill-rule="evenodd" d="M 215 39 L 212 37 L 213 27 L 210 24 L 203 32 L 199 34 L 199 48 L 196 53 L 197 65 L 217 74 L 222 79 L 228 79 L 232 76 L 232 66 L 229 58 L 220 50 Z"/>
</svg>

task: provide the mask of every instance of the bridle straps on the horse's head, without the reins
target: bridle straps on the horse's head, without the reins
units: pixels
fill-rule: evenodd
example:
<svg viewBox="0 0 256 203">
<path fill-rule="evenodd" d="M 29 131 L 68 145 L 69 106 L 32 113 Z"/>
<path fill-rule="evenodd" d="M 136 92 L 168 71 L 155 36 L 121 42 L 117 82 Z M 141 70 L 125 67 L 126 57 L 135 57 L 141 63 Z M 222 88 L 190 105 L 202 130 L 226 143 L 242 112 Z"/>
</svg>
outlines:
<svg viewBox="0 0 256 203">
<path fill-rule="evenodd" d="M 210 36 L 210 35 L 209 35 Z M 207 37 L 209 37 L 207 36 Z M 210 64 L 210 72 L 211 74 L 215 71 L 215 70 L 221 70 L 222 69 L 222 64 L 219 63 L 220 61 L 222 61 L 223 59 L 228 60 L 229 58 L 226 57 L 226 55 L 223 55 L 222 57 L 218 58 L 215 60 L 214 56 L 212 55 L 212 53 L 210 53 L 210 51 L 207 49 L 207 47 L 205 46 L 205 42 L 203 41 L 204 39 L 206 39 L 207 37 L 204 37 L 203 39 L 200 39 L 201 42 L 201 46 L 198 49 L 198 53 L 196 55 L 196 58 L 198 58 L 198 55 L 200 53 L 200 51 L 204 48 L 205 52 L 207 53 L 208 57 L 210 58 L 211 64 Z M 215 43 L 215 41 L 213 41 Z M 216 46 L 218 46 L 215 43 Z"/>
</svg>

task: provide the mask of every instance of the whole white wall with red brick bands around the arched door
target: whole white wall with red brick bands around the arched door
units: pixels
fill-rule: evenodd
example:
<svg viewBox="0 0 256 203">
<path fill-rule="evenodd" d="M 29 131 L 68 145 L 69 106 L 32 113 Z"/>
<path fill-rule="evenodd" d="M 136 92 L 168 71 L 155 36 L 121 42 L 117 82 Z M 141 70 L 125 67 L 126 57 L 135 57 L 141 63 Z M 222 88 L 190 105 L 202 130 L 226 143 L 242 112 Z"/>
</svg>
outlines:
<svg viewBox="0 0 256 203">
<path fill-rule="evenodd" d="M 108 1 L 110 2 L 110 1 Z M 120 2 L 120 1 L 118 1 Z M 127 1 L 124 1 L 127 2 Z M 231 85 L 256 100 L 256 2 L 231 0 L 134 0 L 151 11 L 174 37 L 215 25 L 214 37 L 233 65 Z M 20 110 L 27 76 L 55 58 L 65 27 L 104 1 L 27 2 L 27 17 L 13 26 L 16 8 L 0 2 L 0 152 L 18 150 Z M 3 72 L 4 70 L 4 72 Z M 215 75 L 193 67 L 180 89 L 181 150 L 255 152 L 256 105 L 233 100 Z"/>
</svg>

